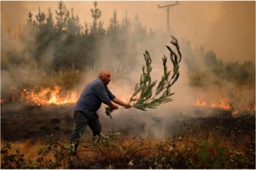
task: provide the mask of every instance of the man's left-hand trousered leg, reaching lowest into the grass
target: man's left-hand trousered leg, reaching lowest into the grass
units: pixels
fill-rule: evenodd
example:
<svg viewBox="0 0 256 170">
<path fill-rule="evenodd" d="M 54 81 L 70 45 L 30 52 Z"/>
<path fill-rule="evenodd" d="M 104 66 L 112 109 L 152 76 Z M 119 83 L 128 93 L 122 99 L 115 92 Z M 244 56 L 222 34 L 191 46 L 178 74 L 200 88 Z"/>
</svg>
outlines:
<svg viewBox="0 0 256 170">
<path fill-rule="evenodd" d="M 88 125 L 89 120 L 80 111 L 74 111 L 74 120 L 75 128 L 73 129 L 73 134 L 71 136 L 71 144 L 74 145 L 74 153 L 76 153 L 79 139 L 84 133 L 84 130 L 86 129 L 86 125 Z"/>
</svg>

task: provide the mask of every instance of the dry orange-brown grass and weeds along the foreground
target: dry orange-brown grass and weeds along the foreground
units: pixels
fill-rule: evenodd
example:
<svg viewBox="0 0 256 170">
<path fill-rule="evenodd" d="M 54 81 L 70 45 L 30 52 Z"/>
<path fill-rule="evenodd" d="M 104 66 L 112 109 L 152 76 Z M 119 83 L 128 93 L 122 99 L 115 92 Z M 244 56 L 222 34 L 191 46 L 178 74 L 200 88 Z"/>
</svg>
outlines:
<svg viewBox="0 0 256 170">
<path fill-rule="evenodd" d="M 55 138 L 44 140 L 48 142 L 11 142 L 9 155 L 1 154 L 1 160 L 4 162 L 4 157 L 10 160 L 19 149 L 26 160 L 33 160 L 37 169 L 250 169 L 255 168 L 254 121 L 253 116 L 231 118 L 220 126 L 214 125 L 218 121 L 206 123 L 206 129 L 184 123 L 172 137 L 161 139 L 102 134 L 96 142 L 81 139 L 75 158 L 68 142 L 61 140 L 51 145 L 39 163 L 37 159 L 42 154 L 38 151 L 47 151 L 50 143 L 56 142 Z M 1 141 L 2 150 L 6 143 Z M 15 166 L 12 168 L 19 167 Z"/>
</svg>

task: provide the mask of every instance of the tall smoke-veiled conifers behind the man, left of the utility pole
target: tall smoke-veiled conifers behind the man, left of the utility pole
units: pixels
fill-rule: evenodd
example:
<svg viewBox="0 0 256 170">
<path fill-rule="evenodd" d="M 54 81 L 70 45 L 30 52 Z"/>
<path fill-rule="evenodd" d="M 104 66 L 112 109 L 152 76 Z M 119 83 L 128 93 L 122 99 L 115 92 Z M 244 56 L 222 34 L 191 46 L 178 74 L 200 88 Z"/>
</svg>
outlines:
<svg viewBox="0 0 256 170">
<path fill-rule="evenodd" d="M 136 62 L 136 59 L 130 57 L 137 54 L 136 46 L 156 32 L 148 32 L 137 15 L 133 21 L 127 12 L 119 23 L 116 10 L 113 10 L 109 25 L 104 28 L 97 1 L 93 3 L 93 7 L 93 22 L 85 22 L 84 25 L 80 24 L 73 8 L 68 10 L 62 1 L 58 2 L 55 10 L 55 20 L 50 8 L 45 13 L 39 7 L 35 16 L 28 12 L 26 31 L 29 33 L 26 36 L 21 35 L 20 39 L 26 45 L 26 51 L 35 59 L 38 68 L 47 72 L 74 67 L 77 70 L 86 70 L 93 67 L 104 54 L 113 61 L 125 63 L 127 67 Z M 28 36 L 33 36 L 35 40 L 28 41 Z"/>
</svg>

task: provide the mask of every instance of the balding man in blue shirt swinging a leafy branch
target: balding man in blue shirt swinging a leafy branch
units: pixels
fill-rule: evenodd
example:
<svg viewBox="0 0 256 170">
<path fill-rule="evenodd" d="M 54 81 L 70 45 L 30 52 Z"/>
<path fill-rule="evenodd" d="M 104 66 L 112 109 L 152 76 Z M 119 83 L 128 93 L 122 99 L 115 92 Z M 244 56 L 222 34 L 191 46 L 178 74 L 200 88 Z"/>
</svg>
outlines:
<svg viewBox="0 0 256 170">
<path fill-rule="evenodd" d="M 79 139 L 84 129 L 89 125 L 93 131 L 93 138 L 100 136 L 101 125 L 96 111 L 100 109 L 102 103 L 109 105 L 112 109 L 118 109 L 118 105 L 130 108 L 129 103 L 124 103 L 114 96 L 107 85 L 111 81 L 109 70 L 100 70 L 98 78 L 86 85 L 80 98 L 77 100 L 74 111 L 75 128 L 71 136 L 71 144 L 74 145 L 74 154 L 77 151 Z"/>
</svg>

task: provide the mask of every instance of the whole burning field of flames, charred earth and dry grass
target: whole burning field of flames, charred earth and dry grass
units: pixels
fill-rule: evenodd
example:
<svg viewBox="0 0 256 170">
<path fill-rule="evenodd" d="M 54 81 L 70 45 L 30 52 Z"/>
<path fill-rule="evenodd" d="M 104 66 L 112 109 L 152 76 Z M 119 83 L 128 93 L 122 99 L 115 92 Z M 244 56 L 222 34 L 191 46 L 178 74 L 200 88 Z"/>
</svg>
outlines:
<svg viewBox="0 0 256 170">
<path fill-rule="evenodd" d="M 204 98 L 199 102 L 205 105 L 192 103 L 199 110 L 193 111 L 194 118 L 173 113 L 159 118 L 149 111 L 121 118 L 114 114 L 112 123 L 101 116 L 104 136 L 96 142 L 83 138 L 77 156 L 72 156 L 64 141 L 73 128 L 73 92 L 61 86 L 10 91 L 11 96 L 1 98 L 2 169 L 255 169 L 255 105 L 232 114 L 234 106 L 221 96 L 215 105 Z M 70 105 L 62 105 L 66 101 Z M 201 116 L 208 109 L 217 114 Z M 154 127 L 147 129 L 147 121 Z M 148 135 L 156 127 L 165 132 L 163 138 L 154 136 L 155 131 Z"/>
</svg>

